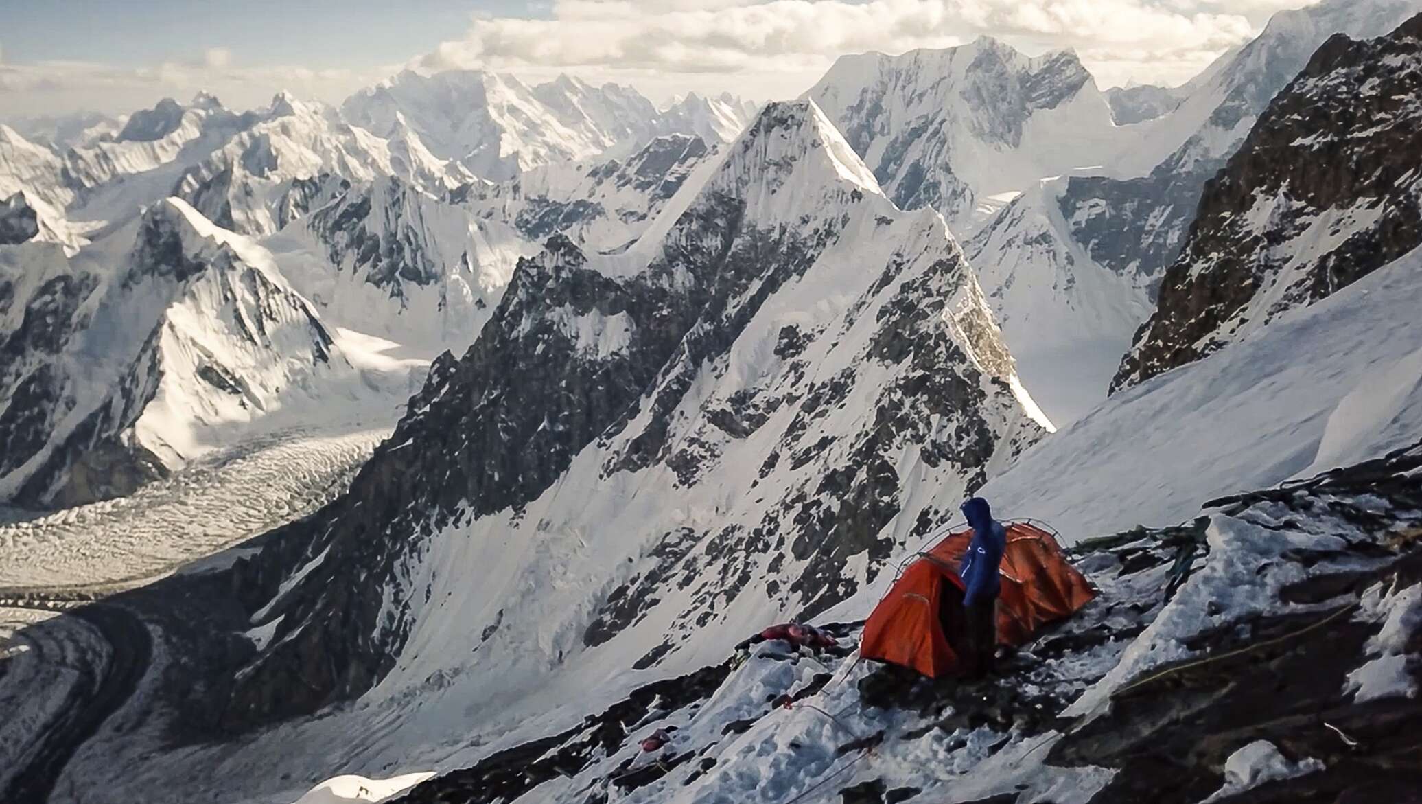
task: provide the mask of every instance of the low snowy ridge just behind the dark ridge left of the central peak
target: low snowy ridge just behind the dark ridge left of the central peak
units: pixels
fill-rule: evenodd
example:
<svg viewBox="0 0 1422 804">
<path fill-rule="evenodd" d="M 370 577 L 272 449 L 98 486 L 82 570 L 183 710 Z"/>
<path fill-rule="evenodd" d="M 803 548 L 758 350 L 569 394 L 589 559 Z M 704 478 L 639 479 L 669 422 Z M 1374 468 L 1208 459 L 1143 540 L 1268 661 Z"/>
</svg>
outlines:
<svg viewBox="0 0 1422 804">
<path fill-rule="evenodd" d="M 623 161 L 543 165 L 506 182 L 471 182 L 451 198 L 523 236 L 567 235 L 594 250 L 630 245 L 711 158 L 700 137 L 657 137 Z"/>
</svg>

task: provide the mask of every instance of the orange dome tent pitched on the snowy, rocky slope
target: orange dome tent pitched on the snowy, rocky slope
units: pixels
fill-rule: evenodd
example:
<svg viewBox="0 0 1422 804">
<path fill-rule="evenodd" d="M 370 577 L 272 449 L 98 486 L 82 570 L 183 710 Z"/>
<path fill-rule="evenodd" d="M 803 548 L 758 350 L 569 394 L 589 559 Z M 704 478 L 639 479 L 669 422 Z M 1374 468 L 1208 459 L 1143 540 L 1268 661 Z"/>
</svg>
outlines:
<svg viewBox="0 0 1422 804">
<path fill-rule="evenodd" d="M 1027 522 L 1004 527 L 997 639 L 1020 647 L 1032 640 L 1038 628 L 1071 616 L 1096 593 L 1051 534 Z M 953 645 L 961 633 L 964 591 L 958 564 L 971 539 L 968 529 L 919 554 L 869 615 L 860 656 L 913 667 L 929 677 L 957 669 Z"/>
</svg>

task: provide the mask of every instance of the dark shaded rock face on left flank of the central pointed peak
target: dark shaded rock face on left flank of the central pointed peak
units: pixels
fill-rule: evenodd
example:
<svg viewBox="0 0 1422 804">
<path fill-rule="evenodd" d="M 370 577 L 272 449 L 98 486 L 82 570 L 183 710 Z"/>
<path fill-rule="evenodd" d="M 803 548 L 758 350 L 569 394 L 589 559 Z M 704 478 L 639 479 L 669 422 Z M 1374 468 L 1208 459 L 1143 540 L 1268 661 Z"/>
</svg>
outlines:
<svg viewBox="0 0 1422 804">
<path fill-rule="evenodd" d="M 314 710 L 364 692 L 390 670 L 411 625 L 400 615 L 380 619 L 381 586 L 398 582 L 397 562 L 411 551 L 418 555 L 435 528 L 465 515 L 465 504 L 475 517 L 526 505 L 579 450 L 627 418 L 627 406 L 667 363 L 697 314 L 727 303 L 729 280 L 721 287 L 677 289 L 673 277 L 680 270 L 718 277 L 738 236 L 739 212 L 735 199 L 718 199 L 685 216 L 680 223 L 685 250 L 668 253 L 631 280 L 586 269 L 577 246 L 557 236 L 538 259 L 520 260 L 479 340 L 458 361 L 435 361 L 391 437 L 421 447 L 378 450 L 350 494 L 317 517 L 340 541 L 313 573 L 328 588 L 303 585 L 289 595 L 282 630 L 286 623 L 314 622 L 283 640 L 237 686 L 230 726 Z M 626 316 L 629 347 L 589 359 L 566 327 L 582 316 Z M 263 554 L 246 571 L 250 596 L 274 592 L 299 561 L 280 551 Z M 365 581 L 353 585 L 353 578 Z M 333 603 L 336 609 L 328 609 Z M 371 632 L 378 640 L 353 639 Z M 286 683 L 293 675 L 306 683 Z"/>
</svg>

